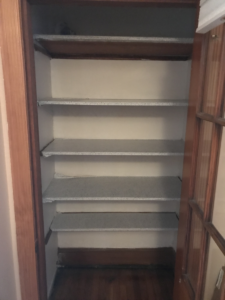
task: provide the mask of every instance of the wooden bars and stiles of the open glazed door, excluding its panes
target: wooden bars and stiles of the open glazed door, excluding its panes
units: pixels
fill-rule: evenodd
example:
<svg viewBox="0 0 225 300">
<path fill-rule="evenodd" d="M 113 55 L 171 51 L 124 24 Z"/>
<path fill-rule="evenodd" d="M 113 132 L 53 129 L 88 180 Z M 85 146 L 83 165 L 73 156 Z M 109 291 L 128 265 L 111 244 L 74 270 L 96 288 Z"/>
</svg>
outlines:
<svg viewBox="0 0 225 300">
<path fill-rule="evenodd" d="M 207 52 L 210 41 L 214 40 L 212 31 L 206 35 L 195 35 L 194 51 L 192 58 L 192 73 L 189 97 L 189 111 L 185 139 L 185 154 L 183 166 L 183 183 L 180 205 L 180 220 L 178 230 L 176 270 L 174 283 L 174 300 L 203 299 L 205 277 L 207 271 L 207 259 L 209 251 L 209 239 L 212 238 L 218 248 L 225 254 L 225 239 L 214 227 L 212 222 L 217 171 L 220 157 L 220 144 L 222 127 L 225 126 L 224 112 L 224 81 L 225 81 L 225 25 L 220 30 L 221 52 L 217 55 L 220 59 L 218 69 L 217 93 L 215 96 L 214 112 L 206 113 L 203 110 L 204 86 L 207 64 Z M 197 161 L 199 155 L 199 137 L 202 121 L 213 124 L 212 139 L 210 141 L 209 169 L 207 173 L 207 187 L 205 205 L 202 209 L 195 197 L 195 181 Z M 190 246 L 191 220 L 193 216 L 198 218 L 202 226 L 199 269 L 196 282 L 196 290 L 193 289 L 187 272 L 188 251 Z"/>
</svg>

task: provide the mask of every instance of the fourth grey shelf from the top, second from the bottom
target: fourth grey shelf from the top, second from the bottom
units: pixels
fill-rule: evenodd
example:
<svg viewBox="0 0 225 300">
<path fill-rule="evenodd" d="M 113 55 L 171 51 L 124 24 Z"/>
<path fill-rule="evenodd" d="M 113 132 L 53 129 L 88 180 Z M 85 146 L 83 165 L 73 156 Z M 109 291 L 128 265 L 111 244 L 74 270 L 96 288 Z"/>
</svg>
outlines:
<svg viewBox="0 0 225 300">
<path fill-rule="evenodd" d="M 43 194 L 53 201 L 179 201 L 177 177 L 54 178 Z"/>
</svg>

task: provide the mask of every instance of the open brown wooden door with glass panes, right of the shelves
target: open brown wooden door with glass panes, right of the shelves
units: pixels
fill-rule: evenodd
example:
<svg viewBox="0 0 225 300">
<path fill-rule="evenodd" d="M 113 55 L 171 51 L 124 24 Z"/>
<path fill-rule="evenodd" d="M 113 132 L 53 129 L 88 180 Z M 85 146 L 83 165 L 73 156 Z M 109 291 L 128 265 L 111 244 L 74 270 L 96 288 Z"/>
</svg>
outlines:
<svg viewBox="0 0 225 300">
<path fill-rule="evenodd" d="M 224 237 L 212 221 L 225 126 L 224 99 L 225 25 L 221 25 L 206 35 L 195 36 L 174 300 L 204 299 L 210 239 L 225 255 Z"/>
</svg>

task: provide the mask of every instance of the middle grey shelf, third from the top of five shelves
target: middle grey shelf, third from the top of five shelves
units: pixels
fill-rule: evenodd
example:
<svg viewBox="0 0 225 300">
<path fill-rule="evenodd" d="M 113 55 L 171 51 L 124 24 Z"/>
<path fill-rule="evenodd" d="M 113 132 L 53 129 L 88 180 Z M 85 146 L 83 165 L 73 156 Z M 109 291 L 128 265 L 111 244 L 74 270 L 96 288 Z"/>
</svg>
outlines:
<svg viewBox="0 0 225 300">
<path fill-rule="evenodd" d="M 182 140 L 69 140 L 55 139 L 42 155 L 180 156 Z"/>
</svg>

